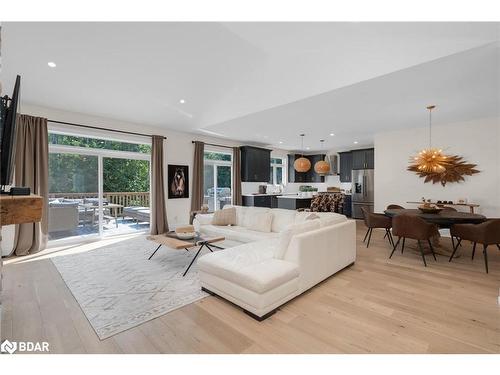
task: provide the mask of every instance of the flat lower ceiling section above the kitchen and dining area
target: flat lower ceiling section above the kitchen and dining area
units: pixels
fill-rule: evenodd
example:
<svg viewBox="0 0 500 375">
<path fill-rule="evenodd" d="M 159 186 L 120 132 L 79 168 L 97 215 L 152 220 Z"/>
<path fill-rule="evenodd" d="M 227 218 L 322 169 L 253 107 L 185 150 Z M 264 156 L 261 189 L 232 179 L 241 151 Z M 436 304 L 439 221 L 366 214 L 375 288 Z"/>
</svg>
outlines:
<svg viewBox="0 0 500 375">
<path fill-rule="evenodd" d="M 488 44 L 208 127 L 229 138 L 299 150 L 373 144 L 380 131 L 500 117 L 500 45 Z M 329 136 L 334 133 L 335 136 Z M 354 142 L 358 144 L 355 145 Z M 280 144 L 280 142 L 283 142 Z"/>
</svg>

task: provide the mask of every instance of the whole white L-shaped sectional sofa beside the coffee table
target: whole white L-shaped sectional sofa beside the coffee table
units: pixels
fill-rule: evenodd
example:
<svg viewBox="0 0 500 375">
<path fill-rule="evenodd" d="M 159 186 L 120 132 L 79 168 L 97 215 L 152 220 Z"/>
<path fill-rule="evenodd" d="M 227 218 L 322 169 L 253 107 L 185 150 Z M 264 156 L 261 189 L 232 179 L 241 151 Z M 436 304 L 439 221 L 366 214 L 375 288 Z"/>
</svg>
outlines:
<svg viewBox="0 0 500 375">
<path fill-rule="evenodd" d="M 212 225 L 212 215 L 194 220 L 202 234 L 242 242 L 199 258 L 201 286 L 257 320 L 356 260 L 356 224 L 344 215 L 229 207 L 234 226 Z"/>
</svg>

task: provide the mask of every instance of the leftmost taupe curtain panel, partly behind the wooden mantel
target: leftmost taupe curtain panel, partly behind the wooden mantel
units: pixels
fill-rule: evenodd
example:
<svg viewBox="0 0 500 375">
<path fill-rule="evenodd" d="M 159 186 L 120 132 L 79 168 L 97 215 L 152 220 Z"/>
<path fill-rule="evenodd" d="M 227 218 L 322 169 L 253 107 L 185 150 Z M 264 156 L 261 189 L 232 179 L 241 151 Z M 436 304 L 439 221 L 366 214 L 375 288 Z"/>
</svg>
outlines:
<svg viewBox="0 0 500 375">
<path fill-rule="evenodd" d="M 49 137 L 47 119 L 19 115 L 17 120 L 15 186 L 26 186 L 32 194 L 43 197 L 42 220 L 16 225 L 14 253 L 34 254 L 43 250 L 48 240 Z"/>
</svg>

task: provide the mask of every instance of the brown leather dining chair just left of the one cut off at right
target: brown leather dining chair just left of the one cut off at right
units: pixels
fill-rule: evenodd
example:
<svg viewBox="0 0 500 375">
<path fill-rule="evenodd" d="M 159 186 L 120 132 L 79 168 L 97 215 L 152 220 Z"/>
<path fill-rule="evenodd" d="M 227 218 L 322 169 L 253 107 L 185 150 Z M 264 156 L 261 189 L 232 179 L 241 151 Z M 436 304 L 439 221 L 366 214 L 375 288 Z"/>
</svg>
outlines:
<svg viewBox="0 0 500 375">
<path fill-rule="evenodd" d="M 432 256 L 434 260 L 436 259 L 436 254 L 434 253 L 434 247 L 431 243 L 431 238 L 439 235 L 438 228 L 435 224 L 426 222 L 424 219 L 414 216 L 414 215 L 397 215 L 392 218 L 392 234 L 398 236 L 398 241 L 392 249 L 389 259 L 392 258 L 394 251 L 396 251 L 399 241 L 401 238 L 404 240 L 406 238 L 411 238 L 417 240 L 418 248 L 422 254 L 422 260 L 424 261 L 424 266 L 427 267 L 427 262 L 425 261 L 424 249 L 422 248 L 421 241 L 427 241 L 429 248 L 431 249 Z"/>
</svg>

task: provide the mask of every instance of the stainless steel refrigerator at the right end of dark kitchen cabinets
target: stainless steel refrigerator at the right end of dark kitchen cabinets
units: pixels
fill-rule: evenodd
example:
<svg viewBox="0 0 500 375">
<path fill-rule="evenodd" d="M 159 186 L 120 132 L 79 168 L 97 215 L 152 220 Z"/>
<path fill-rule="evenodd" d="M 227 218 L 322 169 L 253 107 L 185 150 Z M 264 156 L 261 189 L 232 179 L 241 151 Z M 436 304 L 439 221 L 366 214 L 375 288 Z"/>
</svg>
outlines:
<svg viewBox="0 0 500 375">
<path fill-rule="evenodd" d="M 361 207 L 373 212 L 373 169 L 352 171 L 352 217 L 362 219 Z"/>
</svg>

